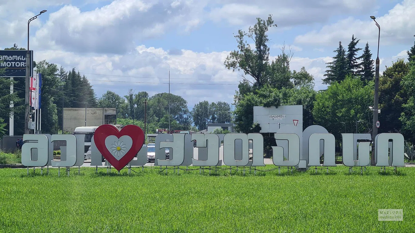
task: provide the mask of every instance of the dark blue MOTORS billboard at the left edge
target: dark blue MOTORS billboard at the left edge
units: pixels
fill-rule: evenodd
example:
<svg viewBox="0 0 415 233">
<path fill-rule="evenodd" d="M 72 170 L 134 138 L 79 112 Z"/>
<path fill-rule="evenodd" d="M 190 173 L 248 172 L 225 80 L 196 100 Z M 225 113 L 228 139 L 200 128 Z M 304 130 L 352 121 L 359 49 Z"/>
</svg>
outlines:
<svg viewBox="0 0 415 233">
<path fill-rule="evenodd" d="M 33 50 L 30 50 L 30 77 L 33 76 Z M 27 50 L 0 50 L 0 69 L 5 69 L 2 77 L 26 77 Z"/>
</svg>

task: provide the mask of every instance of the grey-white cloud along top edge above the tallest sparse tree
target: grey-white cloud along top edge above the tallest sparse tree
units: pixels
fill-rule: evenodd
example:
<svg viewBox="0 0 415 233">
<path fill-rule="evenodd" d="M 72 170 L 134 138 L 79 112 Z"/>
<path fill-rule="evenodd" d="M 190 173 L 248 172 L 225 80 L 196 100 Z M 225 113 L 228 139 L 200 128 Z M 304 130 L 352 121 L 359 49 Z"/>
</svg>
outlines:
<svg viewBox="0 0 415 233">
<path fill-rule="evenodd" d="M 326 22 L 339 14 L 358 14 L 373 8 L 375 0 L 217 0 L 223 4 L 210 11 L 215 22 L 225 20 L 234 25 L 250 25 L 256 17 L 268 14 L 278 27 L 290 27 L 313 22 Z"/>
</svg>

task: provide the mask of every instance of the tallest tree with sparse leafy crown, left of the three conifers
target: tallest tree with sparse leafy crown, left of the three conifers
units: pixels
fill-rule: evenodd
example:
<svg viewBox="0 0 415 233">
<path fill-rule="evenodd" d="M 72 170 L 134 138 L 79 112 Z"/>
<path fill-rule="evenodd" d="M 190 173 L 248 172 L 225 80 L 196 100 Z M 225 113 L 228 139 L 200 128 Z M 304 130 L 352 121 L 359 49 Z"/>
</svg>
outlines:
<svg viewBox="0 0 415 233">
<path fill-rule="evenodd" d="M 267 20 L 257 18 L 254 27 L 249 27 L 248 32 L 242 30 L 234 37 L 238 43 L 238 49 L 229 53 L 225 59 L 225 67 L 229 70 L 243 70 L 245 75 L 250 75 L 253 85 L 261 87 L 269 83 L 271 76 L 269 68 L 269 47 L 267 32 L 269 28 L 276 27 L 272 16 L 269 15 Z M 246 38 L 247 37 L 247 38 Z M 254 42 L 255 48 L 251 48 L 247 39 Z"/>
</svg>

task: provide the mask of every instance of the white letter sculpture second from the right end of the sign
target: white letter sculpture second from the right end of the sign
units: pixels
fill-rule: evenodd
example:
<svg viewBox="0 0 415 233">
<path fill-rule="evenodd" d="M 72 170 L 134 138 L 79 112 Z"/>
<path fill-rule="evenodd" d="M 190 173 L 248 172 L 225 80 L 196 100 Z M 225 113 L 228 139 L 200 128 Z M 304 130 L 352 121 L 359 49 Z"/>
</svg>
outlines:
<svg viewBox="0 0 415 233">
<path fill-rule="evenodd" d="M 348 167 L 366 167 L 370 163 L 370 142 L 359 142 L 359 157 L 354 158 L 356 141 L 353 133 L 342 133 L 343 164 Z"/>
</svg>

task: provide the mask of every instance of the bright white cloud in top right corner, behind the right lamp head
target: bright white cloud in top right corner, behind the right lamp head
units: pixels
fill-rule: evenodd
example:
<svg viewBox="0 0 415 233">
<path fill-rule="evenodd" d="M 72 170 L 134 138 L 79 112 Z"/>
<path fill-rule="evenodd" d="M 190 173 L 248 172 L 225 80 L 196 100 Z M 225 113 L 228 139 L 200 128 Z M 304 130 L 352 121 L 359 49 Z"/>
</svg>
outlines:
<svg viewBox="0 0 415 233">
<path fill-rule="evenodd" d="M 403 0 L 386 15 L 377 17 L 381 26 L 381 44 L 390 45 L 413 41 L 415 31 L 415 0 Z M 311 31 L 295 37 L 296 44 L 336 45 L 338 41 L 349 41 L 351 35 L 377 44 L 378 28 L 372 19 L 360 20 L 353 17 L 342 19 L 334 24 L 326 25 L 319 31 Z"/>
</svg>

